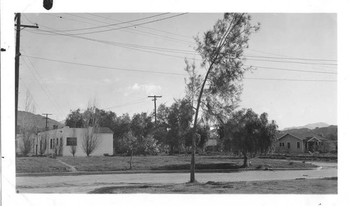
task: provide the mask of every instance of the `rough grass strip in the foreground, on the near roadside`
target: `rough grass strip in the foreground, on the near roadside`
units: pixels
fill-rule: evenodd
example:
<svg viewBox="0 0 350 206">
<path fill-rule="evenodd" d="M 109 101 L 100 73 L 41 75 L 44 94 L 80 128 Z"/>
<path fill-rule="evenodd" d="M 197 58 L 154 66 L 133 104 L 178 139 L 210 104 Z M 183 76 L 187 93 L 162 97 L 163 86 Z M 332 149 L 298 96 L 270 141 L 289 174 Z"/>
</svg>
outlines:
<svg viewBox="0 0 350 206">
<path fill-rule="evenodd" d="M 206 184 L 141 184 L 98 188 L 90 193 L 337 194 L 337 177 L 275 181 L 209 181 Z"/>
</svg>

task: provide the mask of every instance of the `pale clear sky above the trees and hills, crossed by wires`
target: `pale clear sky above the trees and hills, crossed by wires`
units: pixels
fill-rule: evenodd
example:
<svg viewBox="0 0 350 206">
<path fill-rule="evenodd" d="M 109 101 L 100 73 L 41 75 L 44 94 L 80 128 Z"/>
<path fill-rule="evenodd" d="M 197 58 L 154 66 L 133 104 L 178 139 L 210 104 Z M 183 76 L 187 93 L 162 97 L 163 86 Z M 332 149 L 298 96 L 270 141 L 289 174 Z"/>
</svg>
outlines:
<svg viewBox="0 0 350 206">
<path fill-rule="evenodd" d="M 244 75 L 240 108 L 267 112 L 279 128 L 337 125 L 337 15 L 251 17 L 261 27 L 244 51 L 245 66 L 255 70 Z M 184 58 L 200 64 L 193 37 L 220 18 L 223 13 L 22 13 L 22 24 L 39 29 L 21 31 L 19 110 L 26 90 L 36 114 L 57 121 L 92 97 L 118 116 L 153 112 L 148 95 L 162 95 L 157 104 L 170 106 L 185 95 Z"/>
</svg>

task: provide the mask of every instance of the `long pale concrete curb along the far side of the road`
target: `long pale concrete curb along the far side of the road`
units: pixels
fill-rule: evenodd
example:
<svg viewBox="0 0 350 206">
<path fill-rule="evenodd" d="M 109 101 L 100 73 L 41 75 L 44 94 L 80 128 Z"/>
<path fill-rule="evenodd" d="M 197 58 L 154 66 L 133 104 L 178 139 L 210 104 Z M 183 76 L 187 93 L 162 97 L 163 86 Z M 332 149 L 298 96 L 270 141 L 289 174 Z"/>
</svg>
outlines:
<svg viewBox="0 0 350 206">
<path fill-rule="evenodd" d="M 197 173 L 230 173 L 246 171 L 279 171 L 279 170 L 321 170 L 322 167 L 306 168 L 246 168 L 246 169 L 223 169 L 223 170 L 196 170 Z M 190 170 L 123 170 L 123 171 L 97 171 L 97 172 L 32 172 L 16 173 L 16 177 L 46 177 L 46 176 L 76 176 L 92 174 L 151 174 L 151 173 L 189 173 Z"/>
</svg>

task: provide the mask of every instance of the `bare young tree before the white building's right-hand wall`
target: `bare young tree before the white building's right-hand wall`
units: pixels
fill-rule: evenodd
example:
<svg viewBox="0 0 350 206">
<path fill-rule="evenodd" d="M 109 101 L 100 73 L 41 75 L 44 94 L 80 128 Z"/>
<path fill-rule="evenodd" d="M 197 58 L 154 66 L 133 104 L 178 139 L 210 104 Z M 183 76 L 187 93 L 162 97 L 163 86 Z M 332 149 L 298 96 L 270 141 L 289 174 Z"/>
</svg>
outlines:
<svg viewBox="0 0 350 206">
<path fill-rule="evenodd" d="M 99 114 L 97 112 L 97 98 L 94 97 L 89 100 L 87 109 L 83 114 L 84 120 L 84 134 L 81 147 L 86 153 L 86 156 L 90 156 L 101 143 L 101 137 L 99 135 Z"/>
</svg>

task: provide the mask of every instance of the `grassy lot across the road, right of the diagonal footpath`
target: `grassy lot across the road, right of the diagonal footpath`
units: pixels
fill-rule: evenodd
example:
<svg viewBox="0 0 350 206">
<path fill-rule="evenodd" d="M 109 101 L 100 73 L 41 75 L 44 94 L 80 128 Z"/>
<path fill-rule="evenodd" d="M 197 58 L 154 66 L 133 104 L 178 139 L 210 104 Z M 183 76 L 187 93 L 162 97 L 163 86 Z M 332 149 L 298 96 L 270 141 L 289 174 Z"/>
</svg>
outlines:
<svg viewBox="0 0 350 206">
<path fill-rule="evenodd" d="M 38 158 L 40 160 L 41 158 Z M 77 171 L 118 171 L 129 170 L 130 157 L 58 157 Z M 54 160 L 54 159 L 49 159 Z M 251 167 L 301 168 L 316 167 L 306 163 L 252 158 Z M 243 164 L 241 158 L 232 156 L 196 156 L 196 168 L 201 169 L 237 169 Z M 132 170 L 189 170 L 190 156 L 135 156 L 132 158 Z M 33 168 L 32 172 L 36 172 Z"/>
</svg>

